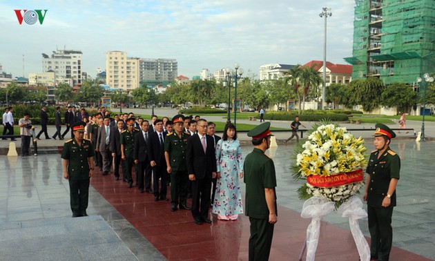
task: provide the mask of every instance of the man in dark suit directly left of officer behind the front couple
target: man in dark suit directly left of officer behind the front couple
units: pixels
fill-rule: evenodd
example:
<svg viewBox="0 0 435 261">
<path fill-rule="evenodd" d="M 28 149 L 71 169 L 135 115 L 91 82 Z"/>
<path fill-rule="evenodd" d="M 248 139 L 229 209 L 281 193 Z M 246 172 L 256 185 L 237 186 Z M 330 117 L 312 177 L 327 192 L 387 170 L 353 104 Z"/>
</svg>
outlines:
<svg viewBox="0 0 435 261">
<path fill-rule="evenodd" d="M 168 171 L 166 171 L 166 160 L 164 158 L 164 139 L 166 138 L 166 133 L 163 132 L 162 119 L 156 119 L 154 122 L 154 127 L 155 131 L 148 139 L 148 159 L 150 160 L 151 167 L 153 168 L 154 201 L 167 201 L 166 182 L 168 180 Z"/>
</svg>

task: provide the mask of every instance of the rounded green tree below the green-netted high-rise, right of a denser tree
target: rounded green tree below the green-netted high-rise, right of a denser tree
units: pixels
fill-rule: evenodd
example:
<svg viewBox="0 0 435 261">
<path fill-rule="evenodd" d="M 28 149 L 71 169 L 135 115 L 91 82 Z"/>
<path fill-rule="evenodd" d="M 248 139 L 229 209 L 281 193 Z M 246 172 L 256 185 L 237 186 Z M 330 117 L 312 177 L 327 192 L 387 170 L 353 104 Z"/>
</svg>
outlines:
<svg viewBox="0 0 435 261">
<path fill-rule="evenodd" d="M 397 112 L 409 112 L 411 106 L 416 103 L 417 93 L 412 86 L 394 83 L 385 87 L 380 104 L 383 106 L 396 107 Z"/>
</svg>

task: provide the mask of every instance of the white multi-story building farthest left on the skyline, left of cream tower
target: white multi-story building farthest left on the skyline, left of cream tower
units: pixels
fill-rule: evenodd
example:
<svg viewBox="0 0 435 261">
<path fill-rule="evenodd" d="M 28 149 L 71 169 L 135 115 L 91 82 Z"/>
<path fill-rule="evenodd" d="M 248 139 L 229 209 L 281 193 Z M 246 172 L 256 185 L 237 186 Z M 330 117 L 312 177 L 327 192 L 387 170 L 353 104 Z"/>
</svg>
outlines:
<svg viewBox="0 0 435 261">
<path fill-rule="evenodd" d="M 42 71 L 52 70 L 56 84 L 64 79 L 72 79 L 73 84 L 81 86 L 81 55 L 78 50 L 56 50 L 51 56 L 42 54 Z"/>
</svg>

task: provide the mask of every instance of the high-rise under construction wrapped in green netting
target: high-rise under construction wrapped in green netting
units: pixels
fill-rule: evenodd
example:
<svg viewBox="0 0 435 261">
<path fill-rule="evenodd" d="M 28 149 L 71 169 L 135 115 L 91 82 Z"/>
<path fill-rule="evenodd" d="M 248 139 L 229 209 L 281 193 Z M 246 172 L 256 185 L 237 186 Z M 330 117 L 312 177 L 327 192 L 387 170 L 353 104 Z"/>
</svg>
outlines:
<svg viewBox="0 0 435 261">
<path fill-rule="evenodd" d="M 356 0 L 352 79 L 412 84 L 435 72 L 435 0 Z"/>
</svg>

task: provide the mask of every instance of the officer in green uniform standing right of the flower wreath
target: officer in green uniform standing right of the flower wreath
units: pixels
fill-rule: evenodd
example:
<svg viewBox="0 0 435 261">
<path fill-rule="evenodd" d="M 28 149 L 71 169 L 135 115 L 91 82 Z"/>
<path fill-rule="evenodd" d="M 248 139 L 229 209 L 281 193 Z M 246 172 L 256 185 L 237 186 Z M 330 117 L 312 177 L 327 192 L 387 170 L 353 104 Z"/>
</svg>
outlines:
<svg viewBox="0 0 435 261">
<path fill-rule="evenodd" d="M 389 260 L 392 249 L 392 215 L 396 206 L 396 185 L 400 178 L 400 157 L 389 148 L 396 133 L 384 124 L 376 124 L 374 146 L 367 166 L 365 193 L 371 260 Z"/>
</svg>

